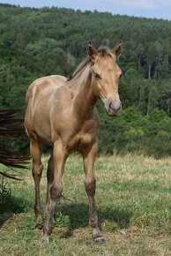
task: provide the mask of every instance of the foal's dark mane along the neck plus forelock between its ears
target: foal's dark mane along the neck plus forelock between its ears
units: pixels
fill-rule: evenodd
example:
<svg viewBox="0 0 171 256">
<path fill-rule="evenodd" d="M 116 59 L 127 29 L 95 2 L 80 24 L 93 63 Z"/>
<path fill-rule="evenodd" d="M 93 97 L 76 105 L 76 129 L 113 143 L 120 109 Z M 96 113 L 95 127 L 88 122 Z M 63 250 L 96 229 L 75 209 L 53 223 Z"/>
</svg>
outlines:
<svg viewBox="0 0 171 256">
<path fill-rule="evenodd" d="M 98 53 L 100 53 L 100 56 L 111 56 L 110 54 L 110 49 L 108 49 L 107 47 L 100 47 L 97 49 Z M 90 56 L 86 56 L 85 60 L 83 60 L 77 67 L 77 69 L 75 70 L 75 72 L 73 72 L 73 74 L 71 75 L 71 78 L 69 78 L 67 81 L 71 81 L 72 79 L 74 79 L 78 73 L 83 72 L 85 70 L 85 68 L 87 67 L 88 64 L 91 64 L 92 60 L 90 58 Z"/>
</svg>

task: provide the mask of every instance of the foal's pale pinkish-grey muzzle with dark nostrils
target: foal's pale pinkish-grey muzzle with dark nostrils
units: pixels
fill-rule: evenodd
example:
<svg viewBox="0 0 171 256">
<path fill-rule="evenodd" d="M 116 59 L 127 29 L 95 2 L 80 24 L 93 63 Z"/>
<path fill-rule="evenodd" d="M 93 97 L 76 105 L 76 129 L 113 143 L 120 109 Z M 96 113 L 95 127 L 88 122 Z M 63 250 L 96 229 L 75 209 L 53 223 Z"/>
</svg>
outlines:
<svg viewBox="0 0 171 256">
<path fill-rule="evenodd" d="M 122 103 L 120 101 L 114 101 L 113 99 L 108 98 L 104 103 L 105 109 L 110 117 L 116 117 L 117 113 L 122 109 Z"/>
</svg>

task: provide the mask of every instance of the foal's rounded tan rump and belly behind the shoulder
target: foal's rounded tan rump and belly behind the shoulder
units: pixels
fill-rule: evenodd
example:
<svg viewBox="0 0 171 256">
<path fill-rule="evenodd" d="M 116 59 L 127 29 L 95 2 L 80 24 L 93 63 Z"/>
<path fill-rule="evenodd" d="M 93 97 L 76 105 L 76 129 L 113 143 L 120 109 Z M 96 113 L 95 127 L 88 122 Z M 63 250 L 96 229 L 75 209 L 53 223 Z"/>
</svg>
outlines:
<svg viewBox="0 0 171 256">
<path fill-rule="evenodd" d="M 39 137 L 51 144 L 51 127 L 49 114 L 56 90 L 66 79 L 62 76 L 49 76 L 36 79 L 26 93 L 26 133 L 31 138 Z"/>
</svg>

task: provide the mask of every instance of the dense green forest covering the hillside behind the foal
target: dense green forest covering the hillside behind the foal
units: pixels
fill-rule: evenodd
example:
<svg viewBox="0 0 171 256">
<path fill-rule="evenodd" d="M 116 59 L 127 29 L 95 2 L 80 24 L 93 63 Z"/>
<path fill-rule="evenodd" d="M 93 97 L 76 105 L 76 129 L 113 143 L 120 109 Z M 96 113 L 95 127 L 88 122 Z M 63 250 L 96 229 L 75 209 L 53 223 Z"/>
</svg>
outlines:
<svg viewBox="0 0 171 256">
<path fill-rule="evenodd" d="M 0 4 L 0 109 L 20 109 L 27 87 L 42 76 L 70 77 L 93 41 L 113 48 L 123 41 L 118 117 L 100 114 L 100 154 L 171 155 L 171 21 L 65 8 Z M 27 151 L 28 139 L 1 139 Z M 48 149 L 46 149 L 48 150 Z"/>
</svg>

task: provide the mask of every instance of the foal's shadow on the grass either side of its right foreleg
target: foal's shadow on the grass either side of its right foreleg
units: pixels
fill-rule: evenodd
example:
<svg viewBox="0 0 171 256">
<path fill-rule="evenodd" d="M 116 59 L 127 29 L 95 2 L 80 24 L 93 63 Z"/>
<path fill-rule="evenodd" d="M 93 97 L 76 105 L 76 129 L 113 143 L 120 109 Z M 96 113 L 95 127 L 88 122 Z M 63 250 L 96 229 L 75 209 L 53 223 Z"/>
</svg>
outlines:
<svg viewBox="0 0 171 256">
<path fill-rule="evenodd" d="M 60 211 L 62 215 L 68 215 L 70 218 L 69 228 L 61 236 L 61 238 L 71 237 L 74 230 L 89 226 L 88 204 L 71 203 L 63 206 L 58 206 L 57 211 Z M 109 221 L 109 222 L 115 222 L 115 224 L 120 229 L 127 228 L 130 225 L 131 215 L 132 215 L 131 212 L 125 211 L 122 208 L 115 208 L 115 210 L 113 210 L 110 207 L 98 209 L 100 227 L 103 222 Z"/>
</svg>

